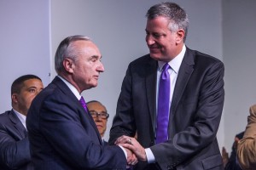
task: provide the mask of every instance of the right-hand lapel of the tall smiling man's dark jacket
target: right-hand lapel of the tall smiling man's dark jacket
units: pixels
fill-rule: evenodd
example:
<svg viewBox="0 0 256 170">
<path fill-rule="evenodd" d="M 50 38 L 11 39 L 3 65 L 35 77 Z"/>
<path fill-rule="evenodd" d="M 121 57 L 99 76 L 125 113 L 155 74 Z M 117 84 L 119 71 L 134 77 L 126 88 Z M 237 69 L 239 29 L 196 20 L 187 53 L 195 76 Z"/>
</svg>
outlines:
<svg viewBox="0 0 256 170">
<path fill-rule="evenodd" d="M 171 117 L 173 117 L 173 114 L 177 108 L 177 104 L 183 96 L 184 89 L 189 82 L 189 77 L 194 71 L 194 64 L 194 55 L 192 54 L 191 50 L 187 48 L 183 62 L 178 71 L 177 82 L 175 84 L 175 89 L 172 96 Z"/>
</svg>

